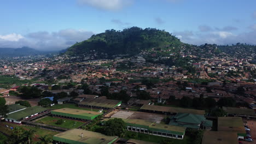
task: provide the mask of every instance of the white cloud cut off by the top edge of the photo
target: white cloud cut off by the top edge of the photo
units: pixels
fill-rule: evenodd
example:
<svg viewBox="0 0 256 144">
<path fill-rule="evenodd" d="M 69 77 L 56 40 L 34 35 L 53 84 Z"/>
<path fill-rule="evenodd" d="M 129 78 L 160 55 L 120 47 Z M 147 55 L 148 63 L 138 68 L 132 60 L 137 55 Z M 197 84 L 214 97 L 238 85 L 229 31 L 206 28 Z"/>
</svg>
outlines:
<svg viewBox="0 0 256 144">
<path fill-rule="evenodd" d="M 104 10 L 120 10 L 133 3 L 133 0 L 77 0 L 79 4 L 90 5 L 91 7 Z"/>
</svg>

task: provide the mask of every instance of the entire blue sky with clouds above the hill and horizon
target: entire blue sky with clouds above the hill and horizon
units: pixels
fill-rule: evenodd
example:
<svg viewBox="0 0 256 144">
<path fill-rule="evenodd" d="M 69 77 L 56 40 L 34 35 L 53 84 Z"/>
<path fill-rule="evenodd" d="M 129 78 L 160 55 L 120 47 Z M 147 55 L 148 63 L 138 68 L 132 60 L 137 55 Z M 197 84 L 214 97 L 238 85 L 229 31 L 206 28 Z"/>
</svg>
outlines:
<svg viewBox="0 0 256 144">
<path fill-rule="evenodd" d="M 106 29 L 165 29 L 189 44 L 256 44 L 255 0 L 8 0 L 0 47 L 61 50 Z"/>
</svg>

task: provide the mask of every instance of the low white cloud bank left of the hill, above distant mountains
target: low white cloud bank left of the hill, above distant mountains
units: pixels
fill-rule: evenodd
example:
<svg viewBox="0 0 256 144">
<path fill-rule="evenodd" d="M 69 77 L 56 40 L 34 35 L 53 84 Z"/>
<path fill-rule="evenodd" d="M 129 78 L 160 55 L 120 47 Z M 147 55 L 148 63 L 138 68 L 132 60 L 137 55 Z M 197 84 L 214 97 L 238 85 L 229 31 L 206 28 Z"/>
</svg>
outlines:
<svg viewBox="0 0 256 144">
<path fill-rule="evenodd" d="M 75 30 L 75 29 L 63 29 L 58 32 L 33 32 L 26 35 L 20 34 L 9 34 L 16 35 L 16 37 L 10 37 L 0 35 L 0 47 L 22 47 L 28 46 L 38 50 L 54 51 L 66 49 L 72 46 L 76 42 L 86 40 L 94 34 L 90 31 Z M 18 35 L 18 36 L 17 36 Z"/>
</svg>

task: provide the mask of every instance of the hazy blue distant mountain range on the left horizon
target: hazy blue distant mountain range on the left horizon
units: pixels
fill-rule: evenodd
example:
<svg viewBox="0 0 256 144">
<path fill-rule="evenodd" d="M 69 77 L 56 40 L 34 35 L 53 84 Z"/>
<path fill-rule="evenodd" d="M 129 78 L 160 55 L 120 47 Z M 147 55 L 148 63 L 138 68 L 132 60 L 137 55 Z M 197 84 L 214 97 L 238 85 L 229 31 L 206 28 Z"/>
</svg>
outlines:
<svg viewBox="0 0 256 144">
<path fill-rule="evenodd" d="M 36 56 L 36 55 L 45 55 L 48 53 L 51 53 L 51 52 L 38 51 L 30 47 L 21 47 L 16 49 L 0 47 L 0 57 Z"/>
</svg>

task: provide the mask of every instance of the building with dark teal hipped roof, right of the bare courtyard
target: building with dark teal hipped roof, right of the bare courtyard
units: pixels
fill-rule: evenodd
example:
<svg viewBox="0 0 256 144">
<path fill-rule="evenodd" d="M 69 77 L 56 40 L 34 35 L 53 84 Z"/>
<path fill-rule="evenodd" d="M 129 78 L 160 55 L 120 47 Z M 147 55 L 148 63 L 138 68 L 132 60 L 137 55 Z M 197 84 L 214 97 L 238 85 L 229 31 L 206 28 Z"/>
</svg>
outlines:
<svg viewBox="0 0 256 144">
<path fill-rule="evenodd" d="M 191 113 L 177 113 L 170 117 L 169 125 L 176 125 L 194 129 L 211 129 L 212 121 L 206 120 L 203 115 L 194 115 Z"/>
</svg>

